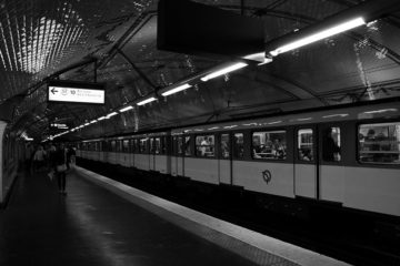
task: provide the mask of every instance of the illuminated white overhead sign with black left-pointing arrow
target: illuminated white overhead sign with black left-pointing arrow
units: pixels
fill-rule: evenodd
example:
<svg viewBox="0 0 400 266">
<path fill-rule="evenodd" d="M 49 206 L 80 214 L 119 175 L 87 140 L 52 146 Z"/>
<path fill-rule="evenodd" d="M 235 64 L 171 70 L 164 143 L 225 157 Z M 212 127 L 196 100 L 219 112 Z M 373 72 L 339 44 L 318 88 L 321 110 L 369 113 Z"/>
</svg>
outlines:
<svg viewBox="0 0 400 266">
<path fill-rule="evenodd" d="M 48 84 L 48 101 L 63 103 L 104 104 L 106 92 L 99 84 L 60 83 Z"/>
</svg>

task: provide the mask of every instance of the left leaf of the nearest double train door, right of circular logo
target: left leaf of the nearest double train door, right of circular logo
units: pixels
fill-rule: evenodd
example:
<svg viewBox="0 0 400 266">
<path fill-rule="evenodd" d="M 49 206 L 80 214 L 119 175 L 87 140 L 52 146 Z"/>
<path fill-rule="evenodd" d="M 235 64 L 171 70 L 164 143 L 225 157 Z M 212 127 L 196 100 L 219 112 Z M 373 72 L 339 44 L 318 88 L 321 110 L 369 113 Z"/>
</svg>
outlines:
<svg viewBox="0 0 400 266">
<path fill-rule="evenodd" d="M 299 127 L 294 136 L 294 195 L 318 198 L 317 126 Z"/>
</svg>

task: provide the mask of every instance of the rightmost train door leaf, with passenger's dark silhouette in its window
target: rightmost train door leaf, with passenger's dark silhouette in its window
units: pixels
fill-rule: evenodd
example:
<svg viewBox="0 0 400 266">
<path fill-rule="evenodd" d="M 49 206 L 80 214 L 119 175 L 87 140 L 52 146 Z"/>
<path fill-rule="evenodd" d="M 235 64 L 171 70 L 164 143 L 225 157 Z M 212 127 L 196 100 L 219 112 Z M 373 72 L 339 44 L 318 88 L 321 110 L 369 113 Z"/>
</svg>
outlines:
<svg viewBox="0 0 400 266">
<path fill-rule="evenodd" d="M 344 165 L 341 153 L 343 129 L 340 123 L 319 126 L 319 198 L 323 201 L 344 200 Z"/>
</svg>

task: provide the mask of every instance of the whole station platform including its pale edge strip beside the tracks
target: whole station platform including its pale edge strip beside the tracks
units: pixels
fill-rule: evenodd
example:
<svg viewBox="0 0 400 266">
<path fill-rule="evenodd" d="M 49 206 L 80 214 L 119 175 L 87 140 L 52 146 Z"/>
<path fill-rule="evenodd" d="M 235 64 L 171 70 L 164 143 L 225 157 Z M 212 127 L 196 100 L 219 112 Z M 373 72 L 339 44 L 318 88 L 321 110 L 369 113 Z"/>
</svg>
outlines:
<svg viewBox="0 0 400 266">
<path fill-rule="evenodd" d="M 348 265 L 76 166 L 67 195 L 19 176 L 0 209 L 0 265 Z"/>
</svg>

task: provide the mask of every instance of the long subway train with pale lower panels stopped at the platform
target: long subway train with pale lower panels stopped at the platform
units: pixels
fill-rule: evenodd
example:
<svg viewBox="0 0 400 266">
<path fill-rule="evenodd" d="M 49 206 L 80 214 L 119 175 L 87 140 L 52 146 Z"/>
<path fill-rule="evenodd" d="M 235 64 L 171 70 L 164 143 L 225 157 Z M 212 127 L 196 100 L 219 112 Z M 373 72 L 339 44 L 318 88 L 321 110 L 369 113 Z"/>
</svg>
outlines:
<svg viewBox="0 0 400 266">
<path fill-rule="evenodd" d="M 400 101 L 314 109 L 84 140 L 77 156 L 236 187 L 262 202 L 311 202 L 400 216 Z M 266 200 L 267 198 L 267 200 Z"/>
</svg>

